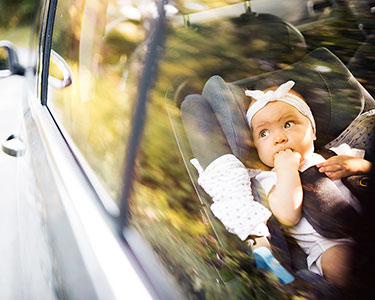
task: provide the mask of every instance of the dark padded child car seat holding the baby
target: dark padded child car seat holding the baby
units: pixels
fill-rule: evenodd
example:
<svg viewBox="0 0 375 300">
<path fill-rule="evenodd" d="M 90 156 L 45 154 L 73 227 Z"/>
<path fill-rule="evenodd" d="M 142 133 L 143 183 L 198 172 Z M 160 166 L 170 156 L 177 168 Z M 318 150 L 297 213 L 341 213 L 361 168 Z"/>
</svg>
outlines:
<svg viewBox="0 0 375 300">
<path fill-rule="evenodd" d="M 193 156 L 198 158 L 203 168 L 212 161 L 213 156 L 226 153 L 233 153 L 248 168 L 265 168 L 250 142 L 250 131 L 245 118 L 249 99 L 245 96 L 244 89 L 263 90 L 290 79 L 296 82 L 295 90 L 304 95 L 315 116 L 317 148 L 346 142 L 350 146 L 364 149 L 366 158 L 374 161 L 375 117 L 372 110 L 375 108 L 375 101 L 332 52 L 326 48 L 318 48 L 283 70 L 234 82 L 226 82 L 220 76 L 213 76 L 206 82 L 201 94 L 185 97 L 181 105 L 182 122 Z M 209 115 L 199 115 L 202 105 L 211 112 Z M 215 122 L 217 126 L 207 131 L 207 122 Z M 255 187 L 255 198 L 260 202 L 264 201 L 264 194 L 256 186 L 256 181 L 252 184 Z M 300 249 L 285 241 L 275 220 L 271 218 L 268 225 L 271 243 L 278 252 L 276 256 L 284 266 L 298 271 L 300 277 L 314 281 L 325 295 L 333 296 L 330 287 L 322 284 L 324 280 L 317 280 L 306 270 Z"/>
</svg>

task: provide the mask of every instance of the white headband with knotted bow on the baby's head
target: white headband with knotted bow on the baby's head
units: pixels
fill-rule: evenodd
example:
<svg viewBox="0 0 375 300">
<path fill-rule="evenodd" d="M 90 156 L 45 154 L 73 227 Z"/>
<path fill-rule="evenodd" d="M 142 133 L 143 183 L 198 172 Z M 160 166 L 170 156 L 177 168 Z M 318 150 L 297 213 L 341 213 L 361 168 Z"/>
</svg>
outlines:
<svg viewBox="0 0 375 300">
<path fill-rule="evenodd" d="M 292 93 L 289 93 L 294 84 L 294 81 L 289 80 L 288 82 L 285 82 L 284 84 L 280 85 L 276 91 L 267 91 L 266 93 L 260 90 L 245 91 L 246 96 L 250 96 L 257 100 L 253 105 L 249 107 L 246 113 L 246 118 L 249 122 L 250 129 L 251 120 L 258 111 L 265 107 L 269 102 L 282 101 L 294 106 L 301 114 L 309 118 L 313 131 L 314 133 L 316 132 L 315 121 L 311 113 L 310 107 L 300 97 Z"/>
</svg>

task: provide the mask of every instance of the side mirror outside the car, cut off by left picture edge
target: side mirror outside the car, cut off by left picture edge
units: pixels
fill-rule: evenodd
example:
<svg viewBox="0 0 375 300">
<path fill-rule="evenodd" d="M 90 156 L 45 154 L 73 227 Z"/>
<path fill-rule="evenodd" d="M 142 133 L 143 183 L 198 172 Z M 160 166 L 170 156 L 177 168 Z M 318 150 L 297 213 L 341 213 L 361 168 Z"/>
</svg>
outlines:
<svg viewBox="0 0 375 300">
<path fill-rule="evenodd" d="M 24 74 L 25 68 L 19 64 L 13 44 L 9 41 L 0 41 L 0 78 Z"/>
</svg>

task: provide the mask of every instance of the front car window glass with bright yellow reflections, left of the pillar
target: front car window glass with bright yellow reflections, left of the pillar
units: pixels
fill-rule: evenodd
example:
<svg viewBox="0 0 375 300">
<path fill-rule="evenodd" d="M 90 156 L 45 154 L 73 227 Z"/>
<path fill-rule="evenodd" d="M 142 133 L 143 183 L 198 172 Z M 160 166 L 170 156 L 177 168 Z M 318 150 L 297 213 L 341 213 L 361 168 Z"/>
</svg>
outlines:
<svg viewBox="0 0 375 300">
<path fill-rule="evenodd" d="M 52 49 L 71 70 L 72 84 L 56 88 L 66 67 L 52 55 L 48 107 L 73 138 L 114 198 L 121 189 L 133 96 L 152 14 L 132 1 L 59 1 Z"/>
</svg>

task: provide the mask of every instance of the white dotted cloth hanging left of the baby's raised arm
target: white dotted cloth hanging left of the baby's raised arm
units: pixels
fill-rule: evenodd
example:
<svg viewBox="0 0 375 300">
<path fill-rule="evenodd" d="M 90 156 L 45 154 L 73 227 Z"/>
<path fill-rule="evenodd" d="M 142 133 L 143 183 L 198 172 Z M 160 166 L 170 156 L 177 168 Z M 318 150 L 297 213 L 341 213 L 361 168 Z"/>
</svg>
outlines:
<svg viewBox="0 0 375 300">
<path fill-rule="evenodd" d="M 249 235 L 269 235 L 271 212 L 254 201 L 246 167 L 232 154 L 214 160 L 200 172 L 198 183 L 212 197 L 211 211 L 227 230 L 241 240 Z"/>
</svg>

